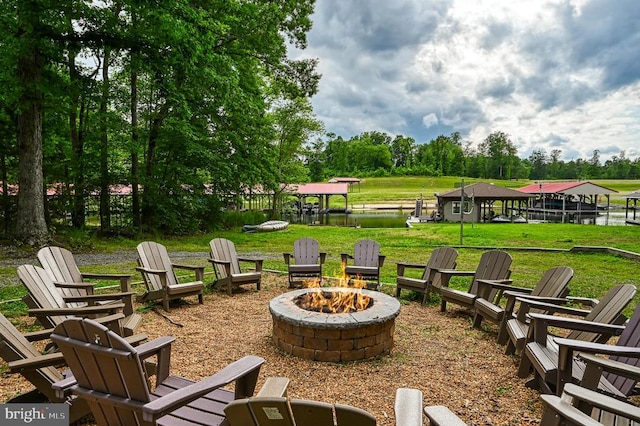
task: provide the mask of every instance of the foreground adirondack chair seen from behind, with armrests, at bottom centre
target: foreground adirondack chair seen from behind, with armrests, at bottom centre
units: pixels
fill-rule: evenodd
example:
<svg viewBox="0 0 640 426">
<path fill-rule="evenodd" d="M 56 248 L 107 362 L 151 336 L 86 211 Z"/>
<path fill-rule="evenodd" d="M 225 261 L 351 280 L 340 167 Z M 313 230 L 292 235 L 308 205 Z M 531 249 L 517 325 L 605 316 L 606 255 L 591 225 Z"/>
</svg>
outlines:
<svg viewBox="0 0 640 426">
<path fill-rule="evenodd" d="M 376 425 L 376 418 L 359 408 L 289 399 L 286 397 L 288 382 L 284 377 L 270 377 L 255 397 L 230 402 L 224 411 L 231 426 Z M 396 426 L 422 426 L 422 392 L 397 389 L 395 412 Z"/>
</svg>

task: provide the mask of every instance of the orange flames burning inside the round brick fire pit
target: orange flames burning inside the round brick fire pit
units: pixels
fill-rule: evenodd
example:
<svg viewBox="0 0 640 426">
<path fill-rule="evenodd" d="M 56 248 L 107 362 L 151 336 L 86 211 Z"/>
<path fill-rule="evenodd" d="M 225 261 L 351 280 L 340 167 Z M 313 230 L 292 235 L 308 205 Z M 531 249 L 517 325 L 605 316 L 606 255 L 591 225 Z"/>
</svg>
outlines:
<svg viewBox="0 0 640 426">
<path fill-rule="evenodd" d="M 371 305 L 371 298 L 362 294 L 360 289 L 366 286 L 366 281 L 360 277 L 349 277 L 345 273 L 345 265 L 335 278 L 337 283 L 333 287 L 350 288 L 348 290 L 327 291 L 320 287 L 320 279 L 306 280 L 304 287 L 310 290 L 296 298 L 296 304 L 303 309 L 327 314 L 357 312 L 367 309 Z"/>
</svg>

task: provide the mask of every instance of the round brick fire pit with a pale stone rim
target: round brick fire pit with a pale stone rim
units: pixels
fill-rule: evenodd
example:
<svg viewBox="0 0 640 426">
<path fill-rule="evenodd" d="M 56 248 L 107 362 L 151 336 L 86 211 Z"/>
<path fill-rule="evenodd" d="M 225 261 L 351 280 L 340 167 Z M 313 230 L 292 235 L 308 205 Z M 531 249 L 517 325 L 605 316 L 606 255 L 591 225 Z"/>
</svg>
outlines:
<svg viewBox="0 0 640 426">
<path fill-rule="evenodd" d="M 328 313 L 310 311 L 297 302 L 308 293 L 331 293 L 369 300 L 362 310 Z M 363 297 L 364 296 L 364 297 Z M 301 289 L 271 299 L 273 341 L 283 351 L 314 361 L 354 361 L 388 354 L 393 347 L 400 303 L 384 293 L 365 289 L 325 287 Z"/>
</svg>

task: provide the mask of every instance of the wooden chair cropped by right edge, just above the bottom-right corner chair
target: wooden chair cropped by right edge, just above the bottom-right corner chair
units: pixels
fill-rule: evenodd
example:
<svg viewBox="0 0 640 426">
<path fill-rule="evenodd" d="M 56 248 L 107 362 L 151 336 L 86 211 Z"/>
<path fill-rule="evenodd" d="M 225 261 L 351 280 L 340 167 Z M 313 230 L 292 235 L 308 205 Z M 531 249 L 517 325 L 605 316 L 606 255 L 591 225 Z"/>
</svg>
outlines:
<svg viewBox="0 0 640 426">
<path fill-rule="evenodd" d="M 536 324 L 537 327 L 537 324 Z M 605 326 L 605 331 L 606 326 Z M 600 389 L 617 398 L 627 398 L 635 389 L 637 377 L 619 376 L 614 372 L 600 374 L 603 363 L 620 362 L 628 366 L 636 367 L 640 371 L 640 305 L 636 307 L 633 315 L 625 324 L 624 330 L 615 345 L 584 342 L 556 337 L 553 339 L 558 345 L 558 375 L 555 383 L 556 394 L 562 392 L 566 383 L 576 382 L 589 389 Z M 596 358 L 592 361 L 592 371 L 585 371 L 585 364 L 577 356 L 585 354 L 609 355 L 609 358 Z"/>
</svg>

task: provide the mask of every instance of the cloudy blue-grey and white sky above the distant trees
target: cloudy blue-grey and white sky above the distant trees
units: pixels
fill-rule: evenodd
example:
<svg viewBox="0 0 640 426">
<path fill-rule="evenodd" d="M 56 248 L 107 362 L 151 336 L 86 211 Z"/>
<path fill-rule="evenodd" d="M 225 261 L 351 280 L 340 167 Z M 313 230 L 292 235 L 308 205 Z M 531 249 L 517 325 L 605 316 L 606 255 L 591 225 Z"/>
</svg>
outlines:
<svg viewBox="0 0 640 426">
<path fill-rule="evenodd" d="M 316 0 L 326 131 L 507 133 L 521 158 L 640 157 L 639 0 Z"/>
</svg>

